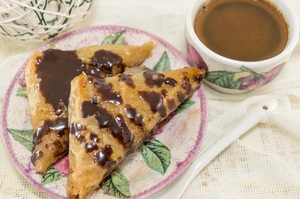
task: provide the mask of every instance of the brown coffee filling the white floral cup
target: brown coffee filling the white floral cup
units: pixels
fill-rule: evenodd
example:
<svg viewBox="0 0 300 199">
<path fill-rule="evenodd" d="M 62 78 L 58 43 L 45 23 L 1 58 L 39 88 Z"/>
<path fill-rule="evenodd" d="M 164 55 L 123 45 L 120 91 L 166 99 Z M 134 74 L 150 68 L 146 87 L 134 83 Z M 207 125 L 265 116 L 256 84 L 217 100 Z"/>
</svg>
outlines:
<svg viewBox="0 0 300 199">
<path fill-rule="evenodd" d="M 194 30 L 213 52 L 239 61 L 278 55 L 288 40 L 288 25 L 268 0 L 208 0 L 200 5 Z"/>
</svg>

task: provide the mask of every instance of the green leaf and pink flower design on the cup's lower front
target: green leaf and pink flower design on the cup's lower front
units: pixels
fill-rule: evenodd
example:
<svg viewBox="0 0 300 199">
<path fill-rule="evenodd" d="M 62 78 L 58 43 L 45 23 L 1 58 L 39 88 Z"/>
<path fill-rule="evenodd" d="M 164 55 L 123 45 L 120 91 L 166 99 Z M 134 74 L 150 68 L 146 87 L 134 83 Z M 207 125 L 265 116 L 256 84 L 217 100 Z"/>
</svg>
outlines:
<svg viewBox="0 0 300 199">
<path fill-rule="evenodd" d="M 229 89 L 252 90 L 272 81 L 281 71 L 286 62 L 283 62 L 267 72 L 257 73 L 254 70 L 241 66 L 239 71 L 218 70 L 207 72 L 205 79 L 217 86 Z"/>
</svg>

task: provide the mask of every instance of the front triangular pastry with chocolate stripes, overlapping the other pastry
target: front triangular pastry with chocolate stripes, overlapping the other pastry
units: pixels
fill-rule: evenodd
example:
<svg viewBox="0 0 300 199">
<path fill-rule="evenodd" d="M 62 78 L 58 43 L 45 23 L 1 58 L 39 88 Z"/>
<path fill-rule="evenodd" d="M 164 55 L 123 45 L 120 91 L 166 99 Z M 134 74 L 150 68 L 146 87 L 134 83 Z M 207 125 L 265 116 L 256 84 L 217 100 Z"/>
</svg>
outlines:
<svg viewBox="0 0 300 199">
<path fill-rule="evenodd" d="M 196 67 L 156 73 L 141 66 L 104 79 L 75 77 L 68 106 L 68 198 L 86 198 L 199 87 L 204 74 Z"/>
</svg>

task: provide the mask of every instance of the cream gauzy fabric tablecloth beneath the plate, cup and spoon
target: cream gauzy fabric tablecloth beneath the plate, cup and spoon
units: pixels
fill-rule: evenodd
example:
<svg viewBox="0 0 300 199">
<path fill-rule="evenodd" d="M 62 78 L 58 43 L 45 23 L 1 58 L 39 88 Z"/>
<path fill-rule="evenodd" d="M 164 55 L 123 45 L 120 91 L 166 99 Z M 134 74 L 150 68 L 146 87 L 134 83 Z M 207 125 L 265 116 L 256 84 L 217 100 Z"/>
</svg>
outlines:
<svg viewBox="0 0 300 199">
<path fill-rule="evenodd" d="M 300 11 L 300 0 L 289 0 Z M 149 31 L 185 54 L 184 19 L 189 0 L 94 0 L 75 28 L 116 24 Z M 0 37 L 0 103 L 13 75 L 42 42 Z M 221 94 L 205 85 L 208 124 L 205 151 L 246 114 L 273 96 L 279 107 L 214 158 L 181 198 L 300 198 L 300 45 L 280 75 L 265 87 L 241 95 Z M 1 105 L 2 106 L 2 105 Z M 0 198 L 50 198 L 14 168 L 0 137 Z"/>
</svg>

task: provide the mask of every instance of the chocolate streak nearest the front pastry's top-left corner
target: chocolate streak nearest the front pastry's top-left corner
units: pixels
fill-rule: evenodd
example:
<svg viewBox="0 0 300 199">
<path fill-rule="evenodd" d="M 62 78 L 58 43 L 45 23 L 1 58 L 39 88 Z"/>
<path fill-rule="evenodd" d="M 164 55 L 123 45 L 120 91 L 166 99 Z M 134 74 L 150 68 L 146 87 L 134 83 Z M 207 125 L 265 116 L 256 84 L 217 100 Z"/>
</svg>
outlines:
<svg viewBox="0 0 300 199">
<path fill-rule="evenodd" d="M 93 77 L 89 77 L 89 81 L 91 81 L 94 84 L 97 92 L 101 94 L 102 100 L 109 101 L 117 105 L 123 102 L 123 99 L 119 93 L 111 91 L 113 86 L 111 82 L 105 84 L 104 79 Z"/>
</svg>

